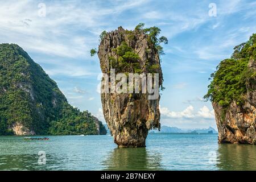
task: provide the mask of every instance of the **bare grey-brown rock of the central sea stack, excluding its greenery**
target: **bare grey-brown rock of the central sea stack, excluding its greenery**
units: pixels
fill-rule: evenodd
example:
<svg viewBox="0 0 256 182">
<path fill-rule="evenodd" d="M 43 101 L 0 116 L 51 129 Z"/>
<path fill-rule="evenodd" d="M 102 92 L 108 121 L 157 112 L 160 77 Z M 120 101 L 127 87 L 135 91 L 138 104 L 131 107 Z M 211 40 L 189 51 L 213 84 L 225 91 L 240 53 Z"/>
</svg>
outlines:
<svg viewBox="0 0 256 182">
<path fill-rule="evenodd" d="M 98 57 L 102 73 L 109 75 L 109 57 L 118 58 L 114 48 L 126 42 L 140 57 L 138 63 L 142 72 L 148 73 L 146 64 L 158 64 L 159 85 L 162 84 L 162 71 L 158 52 L 147 42 L 147 35 L 135 32 L 134 38 L 129 39 L 126 30 L 109 32 L 98 48 Z M 110 84 L 110 82 L 109 82 Z M 148 130 L 160 129 L 159 99 L 148 100 L 147 93 L 101 93 L 103 113 L 108 127 L 114 137 L 114 142 L 119 147 L 144 147 Z"/>
</svg>

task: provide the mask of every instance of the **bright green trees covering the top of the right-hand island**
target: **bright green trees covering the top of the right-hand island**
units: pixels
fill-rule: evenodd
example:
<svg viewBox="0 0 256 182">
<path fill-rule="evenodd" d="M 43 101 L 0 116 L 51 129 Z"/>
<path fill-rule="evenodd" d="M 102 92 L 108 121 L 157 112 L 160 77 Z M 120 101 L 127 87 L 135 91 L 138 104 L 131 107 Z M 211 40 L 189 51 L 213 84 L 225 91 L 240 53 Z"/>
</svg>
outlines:
<svg viewBox="0 0 256 182">
<path fill-rule="evenodd" d="M 234 48 L 231 59 L 225 59 L 210 76 L 210 85 L 205 99 L 228 107 L 232 101 L 238 105 L 245 102 L 246 82 L 254 77 L 255 72 L 248 69 L 250 59 L 256 59 L 256 34 L 250 40 Z M 225 112 L 222 113 L 225 116 Z"/>
</svg>

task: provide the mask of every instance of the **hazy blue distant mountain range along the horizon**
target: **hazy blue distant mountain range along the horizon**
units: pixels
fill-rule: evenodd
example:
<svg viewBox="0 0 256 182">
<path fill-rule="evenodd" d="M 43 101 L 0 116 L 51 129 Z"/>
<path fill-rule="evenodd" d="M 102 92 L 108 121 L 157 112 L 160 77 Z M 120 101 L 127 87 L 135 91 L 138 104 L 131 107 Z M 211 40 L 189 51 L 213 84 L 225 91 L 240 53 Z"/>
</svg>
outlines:
<svg viewBox="0 0 256 182">
<path fill-rule="evenodd" d="M 105 124 L 107 133 L 110 134 L 110 130 L 108 126 Z M 218 133 L 213 127 L 209 127 L 208 129 L 179 129 L 177 127 L 170 127 L 170 126 L 161 126 L 161 130 L 151 130 L 150 133 Z"/>
</svg>

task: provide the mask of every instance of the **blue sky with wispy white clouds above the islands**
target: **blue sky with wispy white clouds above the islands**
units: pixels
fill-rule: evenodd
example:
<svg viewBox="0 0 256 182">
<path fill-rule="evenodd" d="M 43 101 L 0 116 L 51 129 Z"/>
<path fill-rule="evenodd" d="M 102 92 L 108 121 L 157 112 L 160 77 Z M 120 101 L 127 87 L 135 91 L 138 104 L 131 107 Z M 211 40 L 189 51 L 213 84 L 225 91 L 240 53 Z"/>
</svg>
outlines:
<svg viewBox="0 0 256 182">
<path fill-rule="evenodd" d="M 46 5 L 46 16 L 39 14 Z M 209 16 L 215 3 L 217 16 Z M 169 40 L 162 56 L 161 123 L 216 128 L 208 78 L 233 47 L 256 32 L 255 1 L 0 1 L 0 43 L 16 43 L 57 82 L 71 105 L 102 121 L 98 35 L 143 22 Z"/>
</svg>

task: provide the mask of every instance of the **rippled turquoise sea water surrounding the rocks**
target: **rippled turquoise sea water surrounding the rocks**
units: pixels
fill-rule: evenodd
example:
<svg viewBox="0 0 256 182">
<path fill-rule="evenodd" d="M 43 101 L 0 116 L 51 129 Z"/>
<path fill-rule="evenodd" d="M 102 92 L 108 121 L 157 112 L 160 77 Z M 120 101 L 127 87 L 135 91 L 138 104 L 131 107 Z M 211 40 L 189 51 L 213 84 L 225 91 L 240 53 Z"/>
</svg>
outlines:
<svg viewBox="0 0 256 182">
<path fill-rule="evenodd" d="M 1 170 L 256 170 L 256 146 L 218 144 L 217 134 L 149 134 L 146 148 L 102 136 L 25 141 L 0 137 Z M 46 153 L 45 164 L 39 151 Z"/>
</svg>

